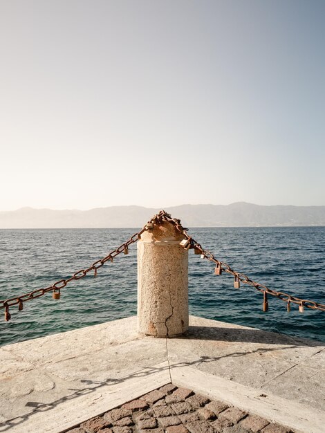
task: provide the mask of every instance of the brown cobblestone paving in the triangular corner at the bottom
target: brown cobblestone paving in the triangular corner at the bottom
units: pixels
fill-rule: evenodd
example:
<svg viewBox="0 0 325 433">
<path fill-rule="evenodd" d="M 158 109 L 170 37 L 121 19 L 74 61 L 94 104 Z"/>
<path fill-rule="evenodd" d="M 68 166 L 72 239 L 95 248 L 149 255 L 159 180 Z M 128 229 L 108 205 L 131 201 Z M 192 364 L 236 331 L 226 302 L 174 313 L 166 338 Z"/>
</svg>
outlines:
<svg viewBox="0 0 325 433">
<path fill-rule="evenodd" d="M 191 389 L 165 385 L 68 430 L 70 433 L 293 433 Z"/>
</svg>

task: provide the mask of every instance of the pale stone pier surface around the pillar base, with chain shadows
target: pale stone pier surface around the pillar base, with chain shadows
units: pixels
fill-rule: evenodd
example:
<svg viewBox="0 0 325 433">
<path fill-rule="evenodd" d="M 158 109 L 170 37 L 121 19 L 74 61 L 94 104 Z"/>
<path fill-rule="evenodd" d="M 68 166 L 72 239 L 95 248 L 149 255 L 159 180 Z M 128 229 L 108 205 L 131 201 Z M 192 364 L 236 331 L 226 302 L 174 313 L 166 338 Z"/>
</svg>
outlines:
<svg viewBox="0 0 325 433">
<path fill-rule="evenodd" d="M 64 432 L 168 383 L 324 432 L 325 344 L 200 317 L 176 338 L 128 317 L 1 347 L 0 432 Z"/>
</svg>

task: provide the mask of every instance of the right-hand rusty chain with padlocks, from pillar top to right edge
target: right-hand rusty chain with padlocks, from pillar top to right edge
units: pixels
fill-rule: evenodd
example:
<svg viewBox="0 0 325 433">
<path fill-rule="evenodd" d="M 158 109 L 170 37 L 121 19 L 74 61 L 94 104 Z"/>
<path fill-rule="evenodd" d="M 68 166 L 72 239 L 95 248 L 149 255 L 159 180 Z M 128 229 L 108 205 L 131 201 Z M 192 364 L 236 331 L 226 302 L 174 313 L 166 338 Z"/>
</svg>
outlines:
<svg viewBox="0 0 325 433">
<path fill-rule="evenodd" d="M 204 250 L 200 243 L 196 242 L 195 239 L 193 239 L 189 234 L 187 234 L 188 229 L 183 228 L 183 226 L 180 224 L 179 219 L 171 218 L 169 214 L 165 211 L 160 211 L 159 214 L 157 214 L 154 219 L 152 219 L 152 222 L 154 223 L 162 223 L 163 221 L 166 221 L 168 223 L 171 223 L 175 226 L 176 230 L 183 234 L 185 236 L 184 241 L 180 242 L 180 245 L 183 246 L 186 250 L 189 250 L 191 248 L 194 248 L 195 254 L 201 254 L 202 259 L 207 259 L 209 261 L 212 261 L 216 268 L 214 270 L 215 275 L 221 275 L 223 272 L 228 273 L 234 277 L 234 288 L 240 288 L 240 284 L 248 284 L 249 286 L 254 287 L 257 291 L 263 293 L 263 311 L 268 311 L 268 295 L 272 295 L 280 299 L 281 301 L 284 301 L 287 303 L 287 311 L 290 311 L 290 303 L 298 304 L 299 305 L 299 312 L 303 313 L 304 307 L 311 308 L 313 310 L 319 310 L 319 311 L 325 311 L 325 305 L 319 304 L 319 302 L 310 301 L 310 300 L 303 300 L 299 297 L 295 297 L 293 295 L 289 295 L 285 292 L 277 292 L 275 290 L 272 290 L 271 288 L 268 288 L 267 286 L 264 286 L 263 284 L 254 282 L 252 279 L 250 279 L 247 275 L 236 272 L 236 270 L 233 270 L 228 264 L 224 263 L 223 261 L 217 260 L 212 252 L 208 250 Z"/>
</svg>

